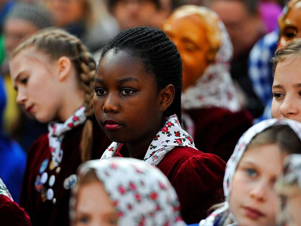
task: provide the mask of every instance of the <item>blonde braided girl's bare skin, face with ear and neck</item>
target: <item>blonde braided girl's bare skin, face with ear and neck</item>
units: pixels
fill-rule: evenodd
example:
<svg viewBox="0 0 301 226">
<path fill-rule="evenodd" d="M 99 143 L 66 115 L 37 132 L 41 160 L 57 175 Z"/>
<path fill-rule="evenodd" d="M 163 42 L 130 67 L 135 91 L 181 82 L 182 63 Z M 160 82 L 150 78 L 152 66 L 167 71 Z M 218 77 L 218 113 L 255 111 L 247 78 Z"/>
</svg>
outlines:
<svg viewBox="0 0 301 226">
<path fill-rule="evenodd" d="M 39 122 L 64 122 L 84 103 L 84 91 L 68 57 L 52 60 L 27 47 L 12 58 L 10 72 L 17 102 Z"/>
</svg>

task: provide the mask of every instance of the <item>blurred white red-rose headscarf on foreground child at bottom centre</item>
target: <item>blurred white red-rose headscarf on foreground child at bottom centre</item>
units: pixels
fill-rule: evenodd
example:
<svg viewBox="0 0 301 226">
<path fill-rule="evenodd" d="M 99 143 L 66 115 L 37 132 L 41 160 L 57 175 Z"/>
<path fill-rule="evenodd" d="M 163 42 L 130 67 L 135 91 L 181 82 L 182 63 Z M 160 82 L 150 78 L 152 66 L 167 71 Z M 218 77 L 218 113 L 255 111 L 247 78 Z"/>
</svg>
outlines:
<svg viewBox="0 0 301 226">
<path fill-rule="evenodd" d="M 175 189 L 157 168 L 137 159 L 92 160 L 79 167 L 79 180 L 89 170 L 95 174 L 115 206 L 119 226 L 185 226 Z M 74 219 L 78 184 L 72 188 L 70 218 Z"/>
</svg>

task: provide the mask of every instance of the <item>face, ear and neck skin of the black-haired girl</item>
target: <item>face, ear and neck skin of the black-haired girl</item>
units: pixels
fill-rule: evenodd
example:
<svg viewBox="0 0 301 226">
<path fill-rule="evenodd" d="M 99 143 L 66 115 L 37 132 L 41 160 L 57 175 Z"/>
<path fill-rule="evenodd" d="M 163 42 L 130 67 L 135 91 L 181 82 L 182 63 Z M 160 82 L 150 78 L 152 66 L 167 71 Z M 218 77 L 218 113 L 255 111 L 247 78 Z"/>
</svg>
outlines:
<svg viewBox="0 0 301 226">
<path fill-rule="evenodd" d="M 171 105 L 175 88 L 161 90 L 145 70 L 141 59 L 126 51 L 109 50 L 98 66 L 94 80 L 94 111 L 110 140 L 125 143 L 129 157 L 149 147 L 162 128 L 163 112 Z M 108 129 L 106 120 L 116 122 Z"/>
</svg>

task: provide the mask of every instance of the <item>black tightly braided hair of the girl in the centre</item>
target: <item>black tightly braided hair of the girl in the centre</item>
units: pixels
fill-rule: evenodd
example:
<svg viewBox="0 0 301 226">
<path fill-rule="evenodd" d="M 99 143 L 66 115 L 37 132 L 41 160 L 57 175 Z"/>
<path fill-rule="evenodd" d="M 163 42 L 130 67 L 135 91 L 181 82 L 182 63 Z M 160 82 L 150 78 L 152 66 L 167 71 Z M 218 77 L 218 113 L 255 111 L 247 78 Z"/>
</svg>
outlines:
<svg viewBox="0 0 301 226">
<path fill-rule="evenodd" d="M 154 77 L 158 91 L 168 84 L 175 87 L 174 100 L 163 116 L 176 114 L 181 121 L 182 60 L 177 47 L 166 34 L 151 27 L 124 30 L 107 44 L 100 61 L 112 49 L 115 53 L 126 50 L 141 59 L 145 71 Z"/>
</svg>

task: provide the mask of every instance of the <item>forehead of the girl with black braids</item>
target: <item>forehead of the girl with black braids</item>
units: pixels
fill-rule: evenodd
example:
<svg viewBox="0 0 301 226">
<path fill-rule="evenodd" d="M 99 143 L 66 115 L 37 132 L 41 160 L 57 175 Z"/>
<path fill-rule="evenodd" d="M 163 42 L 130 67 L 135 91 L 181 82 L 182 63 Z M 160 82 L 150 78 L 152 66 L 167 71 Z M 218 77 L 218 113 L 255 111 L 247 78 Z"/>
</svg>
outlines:
<svg viewBox="0 0 301 226">
<path fill-rule="evenodd" d="M 123 77 L 134 77 L 139 81 L 151 80 L 152 76 L 145 70 L 142 59 L 133 56 L 126 50 L 115 52 L 109 50 L 101 59 L 96 77 L 119 80 Z"/>
</svg>

